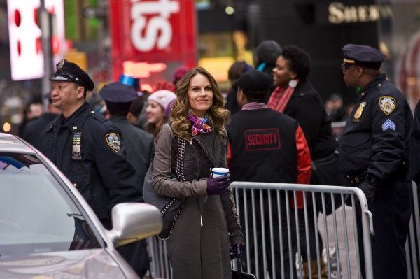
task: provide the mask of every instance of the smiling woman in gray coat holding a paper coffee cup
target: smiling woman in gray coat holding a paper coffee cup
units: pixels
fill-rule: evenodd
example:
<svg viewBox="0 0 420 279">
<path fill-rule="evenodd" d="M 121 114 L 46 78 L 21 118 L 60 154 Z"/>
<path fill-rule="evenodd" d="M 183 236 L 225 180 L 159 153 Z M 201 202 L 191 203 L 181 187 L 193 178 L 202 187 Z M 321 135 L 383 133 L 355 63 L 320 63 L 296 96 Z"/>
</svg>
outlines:
<svg viewBox="0 0 420 279">
<path fill-rule="evenodd" d="M 174 278 L 231 278 L 230 257 L 244 250 L 244 236 L 226 167 L 228 110 L 209 72 L 197 67 L 179 81 L 171 122 L 155 145 L 153 190 L 185 200 L 167 240 Z"/>
</svg>

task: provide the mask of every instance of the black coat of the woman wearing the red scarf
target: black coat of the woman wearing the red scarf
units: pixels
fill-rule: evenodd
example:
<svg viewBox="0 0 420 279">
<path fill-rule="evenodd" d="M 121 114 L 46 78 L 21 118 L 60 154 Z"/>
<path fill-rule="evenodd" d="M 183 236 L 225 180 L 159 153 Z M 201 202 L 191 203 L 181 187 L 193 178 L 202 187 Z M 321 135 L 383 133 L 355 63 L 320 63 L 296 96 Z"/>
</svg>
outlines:
<svg viewBox="0 0 420 279">
<path fill-rule="evenodd" d="M 334 153 L 337 143 L 332 136 L 330 117 L 321 96 L 306 78 L 297 84 L 284 114 L 299 122 L 314 161 Z"/>
</svg>

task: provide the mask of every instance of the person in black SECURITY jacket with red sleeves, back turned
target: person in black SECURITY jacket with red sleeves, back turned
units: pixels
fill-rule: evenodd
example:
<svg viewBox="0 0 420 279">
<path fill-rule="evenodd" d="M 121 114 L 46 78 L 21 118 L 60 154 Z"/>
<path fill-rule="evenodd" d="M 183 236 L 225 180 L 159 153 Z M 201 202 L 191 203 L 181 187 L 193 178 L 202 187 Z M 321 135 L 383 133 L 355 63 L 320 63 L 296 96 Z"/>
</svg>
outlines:
<svg viewBox="0 0 420 279">
<path fill-rule="evenodd" d="M 263 103 L 269 90 L 269 85 L 271 85 L 269 76 L 260 71 L 248 71 L 242 74 L 236 84 L 238 85 L 237 101 L 239 106 L 241 106 L 241 111 L 232 115 L 231 121 L 226 127 L 231 154 L 229 161 L 231 179 L 233 181 L 267 183 L 309 183 L 311 155 L 297 120 L 271 110 Z M 297 195 L 299 196 L 299 194 Z M 256 198 L 262 199 L 260 196 Z M 301 198 L 303 199 L 303 196 Z M 241 199 L 241 197 L 237 199 Z M 274 196 L 275 199 L 276 197 Z M 284 199 L 284 196 L 282 199 Z M 258 201 L 255 203 L 258 204 Z M 248 204 L 251 204 L 251 201 L 248 201 Z M 288 234 L 285 233 L 288 231 L 285 205 L 286 202 L 281 201 L 283 243 L 288 243 L 289 241 L 294 243 L 294 236 L 292 239 L 288 239 Z M 271 208 L 272 212 L 277 212 L 276 206 L 276 203 L 274 203 L 273 208 Z M 241 208 L 241 210 L 243 209 Z M 248 220 L 253 220 L 252 214 L 256 214 L 258 220 L 261 214 L 269 215 L 269 208 L 265 206 L 263 213 L 260 212 L 259 208 L 255 210 L 255 213 L 250 211 Z M 241 212 L 241 224 L 245 224 L 244 215 L 244 212 Z M 295 217 L 290 216 L 290 220 L 293 221 L 294 219 Z M 274 228 L 274 239 L 271 241 L 275 247 L 275 259 L 281 259 L 278 221 L 274 218 L 274 224 L 267 222 L 265 227 L 267 243 L 270 241 L 270 225 Z M 262 233 L 259 229 L 257 236 L 253 235 L 254 225 L 251 221 L 248 221 L 247 233 L 251 243 L 253 243 L 254 238 L 258 241 L 262 238 Z M 290 229 L 293 230 L 294 226 L 290 225 Z M 251 243 L 248 244 L 250 257 L 254 258 L 258 255 L 258 259 L 260 259 L 258 264 L 259 272 L 255 275 L 257 278 L 264 278 L 262 250 L 255 251 Z M 290 260 L 288 250 L 288 245 L 283 244 L 283 251 L 281 251 L 285 255 L 283 258 L 285 266 L 283 278 L 293 278 L 292 274 L 295 273 L 295 265 L 290 264 L 290 262 L 295 262 L 295 257 L 293 256 Z M 292 255 L 295 254 L 293 253 Z M 269 252 L 267 252 L 266 257 L 267 263 L 271 265 L 271 254 Z M 281 278 L 281 261 L 275 262 L 276 277 Z M 289 266 L 293 266 L 292 271 L 288 268 Z M 272 267 L 269 266 L 268 270 L 272 271 Z M 253 261 L 251 271 L 255 272 Z M 272 276 L 274 275 L 272 274 Z"/>
</svg>

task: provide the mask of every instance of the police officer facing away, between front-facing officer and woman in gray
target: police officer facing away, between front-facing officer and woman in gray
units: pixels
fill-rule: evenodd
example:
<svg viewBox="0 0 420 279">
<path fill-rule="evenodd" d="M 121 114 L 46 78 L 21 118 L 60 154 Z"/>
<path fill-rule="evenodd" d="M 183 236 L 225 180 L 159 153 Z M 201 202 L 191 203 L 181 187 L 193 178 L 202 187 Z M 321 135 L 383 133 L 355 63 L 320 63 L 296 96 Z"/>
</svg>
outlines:
<svg viewBox="0 0 420 279">
<path fill-rule="evenodd" d="M 151 164 L 154 150 L 154 137 L 152 134 L 135 127 L 128 122 L 127 114 L 130 111 L 132 101 L 137 99 L 137 91 L 134 87 L 123 83 L 110 83 L 99 91 L 99 96 L 104 99 L 106 108 L 111 116 L 109 120 L 121 130 L 125 139 L 127 161 L 134 166 L 139 173 L 139 191 L 143 193 L 144 176 Z M 132 266 L 134 271 L 141 277 L 149 268 L 146 241 L 137 241 L 117 248 L 118 252 Z"/>
</svg>

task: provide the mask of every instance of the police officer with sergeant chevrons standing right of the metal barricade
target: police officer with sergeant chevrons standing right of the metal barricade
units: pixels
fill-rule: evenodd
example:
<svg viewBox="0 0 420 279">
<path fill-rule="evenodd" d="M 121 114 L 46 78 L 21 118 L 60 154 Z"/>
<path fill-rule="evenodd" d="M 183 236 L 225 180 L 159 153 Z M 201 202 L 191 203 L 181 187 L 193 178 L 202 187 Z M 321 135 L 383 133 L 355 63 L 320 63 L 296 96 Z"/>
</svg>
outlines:
<svg viewBox="0 0 420 279">
<path fill-rule="evenodd" d="M 380 73 L 384 55 L 367 45 L 345 45 L 347 87 L 361 87 L 339 139 L 339 163 L 373 213 L 374 278 L 407 278 L 405 241 L 412 211 L 409 130 L 412 113 L 402 93 Z M 362 240 L 358 220 L 359 242 Z M 359 243 L 364 273 L 363 245 Z"/>
</svg>

